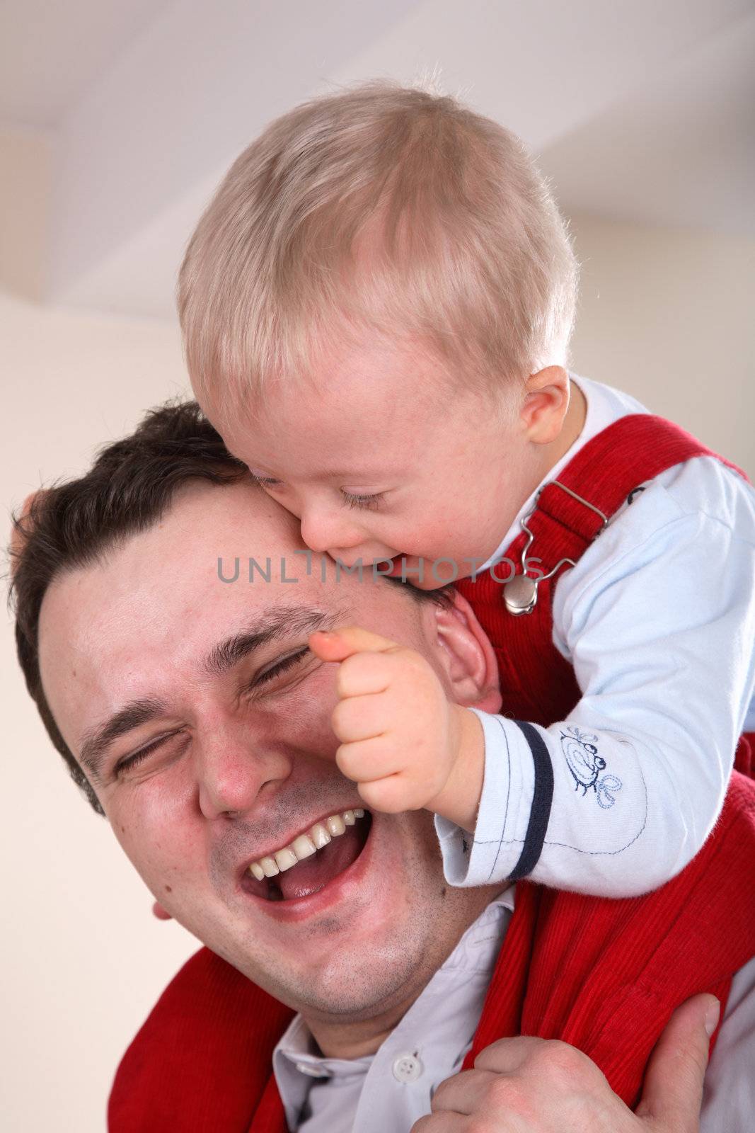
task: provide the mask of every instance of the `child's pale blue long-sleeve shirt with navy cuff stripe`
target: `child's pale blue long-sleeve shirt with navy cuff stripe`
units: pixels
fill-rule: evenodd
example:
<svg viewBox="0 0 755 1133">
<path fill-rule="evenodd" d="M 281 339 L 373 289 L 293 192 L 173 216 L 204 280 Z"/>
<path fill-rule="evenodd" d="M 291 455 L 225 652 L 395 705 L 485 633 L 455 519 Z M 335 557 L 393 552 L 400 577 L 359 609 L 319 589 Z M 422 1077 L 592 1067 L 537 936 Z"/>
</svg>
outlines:
<svg viewBox="0 0 755 1133">
<path fill-rule="evenodd" d="M 574 380 L 585 426 L 543 484 L 614 420 L 646 412 Z M 701 849 L 737 740 L 755 727 L 755 491 L 714 458 L 668 469 L 561 571 L 552 615 L 582 699 L 547 729 L 478 713 L 486 763 L 473 836 L 436 817 L 446 878 L 503 883 L 526 861 L 527 876 L 555 888 L 646 893 Z M 542 815 L 549 800 L 544 841 L 535 834 L 533 845 L 533 808 Z"/>
</svg>

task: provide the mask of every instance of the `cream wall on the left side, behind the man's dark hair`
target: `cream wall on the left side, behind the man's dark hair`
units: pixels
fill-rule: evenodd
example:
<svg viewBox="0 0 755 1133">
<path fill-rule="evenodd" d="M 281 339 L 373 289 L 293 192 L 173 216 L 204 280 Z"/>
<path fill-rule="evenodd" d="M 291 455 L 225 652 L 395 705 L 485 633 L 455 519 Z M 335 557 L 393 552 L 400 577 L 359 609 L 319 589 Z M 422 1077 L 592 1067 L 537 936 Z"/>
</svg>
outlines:
<svg viewBox="0 0 755 1133">
<path fill-rule="evenodd" d="M 41 480 L 83 471 L 141 410 L 186 393 L 173 326 L 51 312 L 0 293 L 3 536 Z M 68 778 L 0 615 L 3 862 L 0 1125 L 100 1133 L 113 1068 L 197 943 L 152 897 Z"/>
</svg>

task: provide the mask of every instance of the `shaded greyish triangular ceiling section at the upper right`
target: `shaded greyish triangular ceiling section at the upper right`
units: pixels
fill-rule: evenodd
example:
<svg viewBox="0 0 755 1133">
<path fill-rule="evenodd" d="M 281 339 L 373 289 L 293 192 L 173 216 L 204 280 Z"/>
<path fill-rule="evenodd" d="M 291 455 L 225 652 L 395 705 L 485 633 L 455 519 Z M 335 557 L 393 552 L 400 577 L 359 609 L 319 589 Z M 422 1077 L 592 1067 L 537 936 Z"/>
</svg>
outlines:
<svg viewBox="0 0 755 1133">
<path fill-rule="evenodd" d="M 548 146 L 567 211 L 755 235 L 755 16 Z"/>
</svg>

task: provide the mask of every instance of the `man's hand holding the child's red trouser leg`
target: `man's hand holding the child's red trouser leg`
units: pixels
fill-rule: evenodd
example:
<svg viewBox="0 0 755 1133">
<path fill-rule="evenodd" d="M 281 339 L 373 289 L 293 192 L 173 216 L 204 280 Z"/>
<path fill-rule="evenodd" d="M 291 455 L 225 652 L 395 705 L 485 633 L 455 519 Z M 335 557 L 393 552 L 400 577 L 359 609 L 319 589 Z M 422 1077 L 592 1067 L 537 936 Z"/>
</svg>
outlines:
<svg viewBox="0 0 755 1133">
<path fill-rule="evenodd" d="M 411 1133 L 698 1133 L 720 1005 L 695 996 L 671 1015 L 632 1113 L 595 1064 L 566 1042 L 501 1039 L 474 1070 L 441 1082 Z"/>
</svg>

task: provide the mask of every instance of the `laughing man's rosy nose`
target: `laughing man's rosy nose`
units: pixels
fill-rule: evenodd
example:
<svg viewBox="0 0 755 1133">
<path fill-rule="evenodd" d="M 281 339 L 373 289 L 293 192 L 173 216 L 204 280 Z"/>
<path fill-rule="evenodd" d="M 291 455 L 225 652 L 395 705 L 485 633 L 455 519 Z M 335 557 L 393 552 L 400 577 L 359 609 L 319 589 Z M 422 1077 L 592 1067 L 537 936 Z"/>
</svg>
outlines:
<svg viewBox="0 0 755 1133">
<path fill-rule="evenodd" d="M 291 774 L 291 759 L 240 727 L 214 731 L 199 748 L 199 808 L 205 818 L 246 813 Z"/>
</svg>

